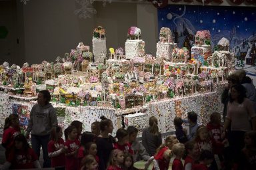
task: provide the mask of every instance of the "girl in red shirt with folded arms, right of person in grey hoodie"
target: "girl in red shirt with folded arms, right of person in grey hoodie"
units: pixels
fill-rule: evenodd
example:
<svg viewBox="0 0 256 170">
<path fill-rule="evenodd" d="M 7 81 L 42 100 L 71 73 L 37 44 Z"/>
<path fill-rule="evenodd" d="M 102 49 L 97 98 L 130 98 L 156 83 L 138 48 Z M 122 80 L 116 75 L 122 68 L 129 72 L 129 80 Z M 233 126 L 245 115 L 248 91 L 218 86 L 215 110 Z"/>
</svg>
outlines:
<svg viewBox="0 0 256 170">
<path fill-rule="evenodd" d="M 60 126 L 51 131 L 48 143 L 48 155 L 51 158 L 51 167 L 65 167 L 65 147 Z"/>
</svg>

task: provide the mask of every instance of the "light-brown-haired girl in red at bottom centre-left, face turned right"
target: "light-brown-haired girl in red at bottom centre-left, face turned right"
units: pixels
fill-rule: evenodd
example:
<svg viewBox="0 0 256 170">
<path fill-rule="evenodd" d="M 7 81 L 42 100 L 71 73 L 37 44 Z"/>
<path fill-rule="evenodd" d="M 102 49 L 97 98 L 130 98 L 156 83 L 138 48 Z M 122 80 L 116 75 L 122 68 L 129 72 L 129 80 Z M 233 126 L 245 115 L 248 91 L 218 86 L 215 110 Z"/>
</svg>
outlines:
<svg viewBox="0 0 256 170">
<path fill-rule="evenodd" d="M 123 160 L 123 151 L 114 149 L 109 156 L 109 166 L 107 170 L 122 170 Z"/>
</svg>

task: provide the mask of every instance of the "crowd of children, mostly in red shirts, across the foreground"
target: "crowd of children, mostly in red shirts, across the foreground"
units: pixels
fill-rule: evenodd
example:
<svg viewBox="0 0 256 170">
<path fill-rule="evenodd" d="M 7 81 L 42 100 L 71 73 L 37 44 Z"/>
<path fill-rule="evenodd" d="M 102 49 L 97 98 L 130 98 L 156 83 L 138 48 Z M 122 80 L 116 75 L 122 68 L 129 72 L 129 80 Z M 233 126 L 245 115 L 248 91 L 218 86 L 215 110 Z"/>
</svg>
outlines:
<svg viewBox="0 0 256 170">
<path fill-rule="evenodd" d="M 137 141 L 137 128 L 129 126 L 127 129 L 117 129 L 116 136 L 112 137 L 111 120 L 104 116 L 101 119 L 101 122 L 93 122 L 92 132 L 83 133 L 82 123 L 72 122 L 64 131 L 65 140 L 62 138 L 63 129 L 59 126 L 53 128 L 48 143 L 51 167 L 67 170 L 135 169 L 133 163 L 144 160 L 145 169 L 153 163 L 153 169 L 165 170 L 169 169 L 171 158 L 173 158 L 171 163 L 173 170 L 254 169 L 256 165 L 256 132 L 245 133 L 245 146 L 240 152 L 240 161 L 234 164 L 227 153 L 229 142 L 222 136 L 221 115 L 217 112 L 211 114 L 206 126 L 197 125 L 195 112 L 189 112 L 187 120 L 175 118 L 173 122 L 176 135 L 167 136 L 165 142 L 157 147 L 152 156 L 147 153 L 147 148 Z M 150 119 L 155 120 L 155 118 Z M 183 122 L 188 122 L 191 128 L 184 129 Z M 151 133 L 151 126 L 149 125 L 149 129 L 146 130 Z M 159 133 L 157 131 L 153 133 L 157 139 Z M 159 141 L 152 140 L 152 142 L 158 144 Z M 37 154 L 29 146 L 26 137 L 20 133 L 17 114 L 11 114 L 5 120 L 2 145 L 6 149 L 7 159 L 2 169 L 41 167 Z"/>
</svg>

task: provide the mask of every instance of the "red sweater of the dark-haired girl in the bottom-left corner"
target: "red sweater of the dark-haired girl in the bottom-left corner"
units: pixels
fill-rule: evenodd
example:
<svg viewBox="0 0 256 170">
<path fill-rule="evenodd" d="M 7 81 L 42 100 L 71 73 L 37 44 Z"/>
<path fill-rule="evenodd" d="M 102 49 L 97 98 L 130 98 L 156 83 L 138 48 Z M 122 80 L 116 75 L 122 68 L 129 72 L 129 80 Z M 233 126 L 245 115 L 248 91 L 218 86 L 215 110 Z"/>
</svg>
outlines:
<svg viewBox="0 0 256 170">
<path fill-rule="evenodd" d="M 11 151 L 7 157 L 7 161 L 11 163 L 10 169 L 31 169 L 34 167 L 34 161 L 37 161 L 38 157 L 35 151 L 29 148 L 27 151 Z"/>
</svg>

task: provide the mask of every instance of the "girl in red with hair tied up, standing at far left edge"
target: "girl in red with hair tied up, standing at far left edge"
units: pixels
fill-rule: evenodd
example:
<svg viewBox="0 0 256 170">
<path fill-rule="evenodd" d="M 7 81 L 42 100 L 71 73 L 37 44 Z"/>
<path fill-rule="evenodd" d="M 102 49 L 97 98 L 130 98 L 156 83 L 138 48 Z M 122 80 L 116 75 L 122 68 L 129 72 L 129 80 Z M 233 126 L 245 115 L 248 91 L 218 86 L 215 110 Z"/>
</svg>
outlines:
<svg viewBox="0 0 256 170">
<path fill-rule="evenodd" d="M 19 116 L 17 114 L 10 114 L 5 119 L 5 126 L 3 128 L 2 145 L 5 147 L 5 157 L 9 155 L 14 146 L 14 138 L 21 133 L 19 128 Z"/>
</svg>

